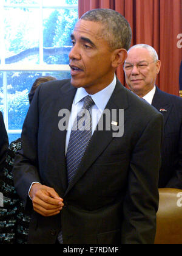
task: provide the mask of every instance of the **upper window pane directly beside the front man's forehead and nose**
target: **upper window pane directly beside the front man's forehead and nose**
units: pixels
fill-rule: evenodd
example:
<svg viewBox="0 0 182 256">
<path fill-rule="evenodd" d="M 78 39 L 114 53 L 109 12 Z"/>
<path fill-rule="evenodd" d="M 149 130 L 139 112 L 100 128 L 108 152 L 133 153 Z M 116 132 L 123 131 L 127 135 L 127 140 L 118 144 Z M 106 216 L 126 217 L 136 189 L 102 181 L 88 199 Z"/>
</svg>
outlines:
<svg viewBox="0 0 182 256">
<path fill-rule="evenodd" d="M 44 63 L 69 64 L 70 35 L 78 21 L 78 10 L 44 9 L 43 18 Z"/>
</svg>

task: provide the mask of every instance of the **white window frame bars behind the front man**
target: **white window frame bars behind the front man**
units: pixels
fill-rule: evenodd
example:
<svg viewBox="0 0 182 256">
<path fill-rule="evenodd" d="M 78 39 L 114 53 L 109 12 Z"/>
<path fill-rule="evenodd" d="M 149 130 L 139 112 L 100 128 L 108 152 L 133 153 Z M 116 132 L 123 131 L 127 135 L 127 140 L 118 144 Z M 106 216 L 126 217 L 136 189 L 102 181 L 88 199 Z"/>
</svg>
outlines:
<svg viewBox="0 0 182 256">
<path fill-rule="evenodd" d="M 62 2 L 60 0 L 60 2 Z M 26 64 L 5 64 L 5 44 L 4 44 L 4 8 L 19 8 L 25 7 L 28 9 L 39 9 L 39 64 L 37 65 L 26 65 Z M 21 130 L 8 129 L 8 106 L 7 106 L 7 72 L 8 71 L 40 71 L 40 72 L 53 72 L 53 71 L 70 71 L 69 65 L 49 65 L 43 63 L 43 29 L 42 29 L 42 10 L 43 9 L 78 9 L 78 5 L 43 5 L 42 0 L 40 0 L 37 5 L 29 4 L 14 4 L 8 5 L 4 4 L 4 1 L 0 1 L 0 72 L 3 71 L 3 91 L 4 91 L 4 123 L 9 134 L 21 133 Z"/>
</svg>

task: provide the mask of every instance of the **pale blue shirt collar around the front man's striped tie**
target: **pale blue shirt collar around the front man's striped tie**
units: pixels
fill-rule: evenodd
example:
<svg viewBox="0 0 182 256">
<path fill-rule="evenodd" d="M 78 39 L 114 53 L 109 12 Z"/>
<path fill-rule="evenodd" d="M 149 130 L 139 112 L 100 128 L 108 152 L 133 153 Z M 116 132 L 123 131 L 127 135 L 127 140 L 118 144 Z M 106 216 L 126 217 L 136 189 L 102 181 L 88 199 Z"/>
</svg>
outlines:
<svg viewBox="0 0 182 256">
<path fill-rule="evenodd" d="M 101 91 L 98 91 L 98 93 L 95 93 L 95 94 L 88 94 L 83 87 L 80 87 L 76 91 L 75 99 L 73 103 L 76 105 L 84 97 L 86 97 L 87 95 L 90 95 L 93 101 L 95 102 L 96 107 L 103 112 L 107 105 L 107 102 L 110 99 L 110 96 L 113 93 L 113 90 L 115 89 L 115 86 L 116 86 L 116 76 L 114 76 L 114 79 L 112 80 L 110 85 L 108 85 L 106 88 L 104 88 Z"/>
</svg>

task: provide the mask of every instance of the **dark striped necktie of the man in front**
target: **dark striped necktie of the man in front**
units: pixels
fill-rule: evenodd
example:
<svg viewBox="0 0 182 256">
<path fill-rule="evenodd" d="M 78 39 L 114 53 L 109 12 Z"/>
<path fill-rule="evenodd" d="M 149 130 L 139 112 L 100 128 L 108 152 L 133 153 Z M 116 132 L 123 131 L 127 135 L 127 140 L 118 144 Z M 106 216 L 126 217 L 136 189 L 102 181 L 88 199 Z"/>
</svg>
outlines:
<svg viewBox="0 0 182 256">
<path fill-rule="evenodd" d="M 81 158 L 92 137 L 92 117 L 89 108 L 94 104 L 93 99 L 90 96 L 86 96 L 83 108 L 81 108 L 73 123 L 66 155 L 68 183 L 75 176 Z M 58 235 L 58 241 L 60 244 L 63 243 L 62 232 Z"/>
</svg>

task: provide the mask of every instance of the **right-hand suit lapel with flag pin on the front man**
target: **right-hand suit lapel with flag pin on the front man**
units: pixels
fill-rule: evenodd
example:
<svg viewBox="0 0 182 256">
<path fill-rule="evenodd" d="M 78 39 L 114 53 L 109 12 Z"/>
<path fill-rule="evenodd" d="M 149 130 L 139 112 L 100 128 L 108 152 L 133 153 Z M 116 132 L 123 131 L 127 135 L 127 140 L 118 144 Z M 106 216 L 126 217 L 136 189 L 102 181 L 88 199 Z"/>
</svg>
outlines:
<svg viewBox="0 0 182 256">
<path fill-rule="evenodd" d="M 127 90 L 127 89 L 125 89 Z M 128 102 L 127 102 L 127 96 L 126 92 L 124 91 L 123 85 L 119 81 L 116 83 L 115 90 L 113 91 L 113 94 L 111 98 L 109 99 L 109 102 L 106 105 L 106 110 L 112 111 L 112 110 L 117 110 L 117 115 L 115 118 L 110 120 L 110 130 L 103 129 L 103 130 L 98 130 L 98 127 L 101 123 L 102 120 L 103 122 L 103 127 L 106 127 L 106 120 L 101 117 L 99 120 L 99 124 L 96 127 L 95 132 L 92 135 L 92 138 L 90 140 L 90 143 L 86 149 L 85 154 L 83 155 L 83 158 L 81 160 L 81 164 L 79 165 L 79 168 L 73 177 L 72 181 L 69 183 L 69 187 L 67 188 L 66 194 L 71 190 L 73 185 L 75 185 L 76 182 L 83 176 L 83 174 L 90 168 L 90 166 L 95 162 L 96 158 L 99 157 L 99 155 L 106 149 L 107 145 L 110 143 L 110 141 L 113 140 L 113 132 L 116 133 L 116 130 L 113 130 L 112 126 L 112 121 L 120 124 L 120 116 L 119 116 L 119 109 L 124 110 L 128 107 Z M 107 124 L 108 128 L 108 124 Z M 65 195 L 66 195 L 65 194 Z"/>
</svg>

